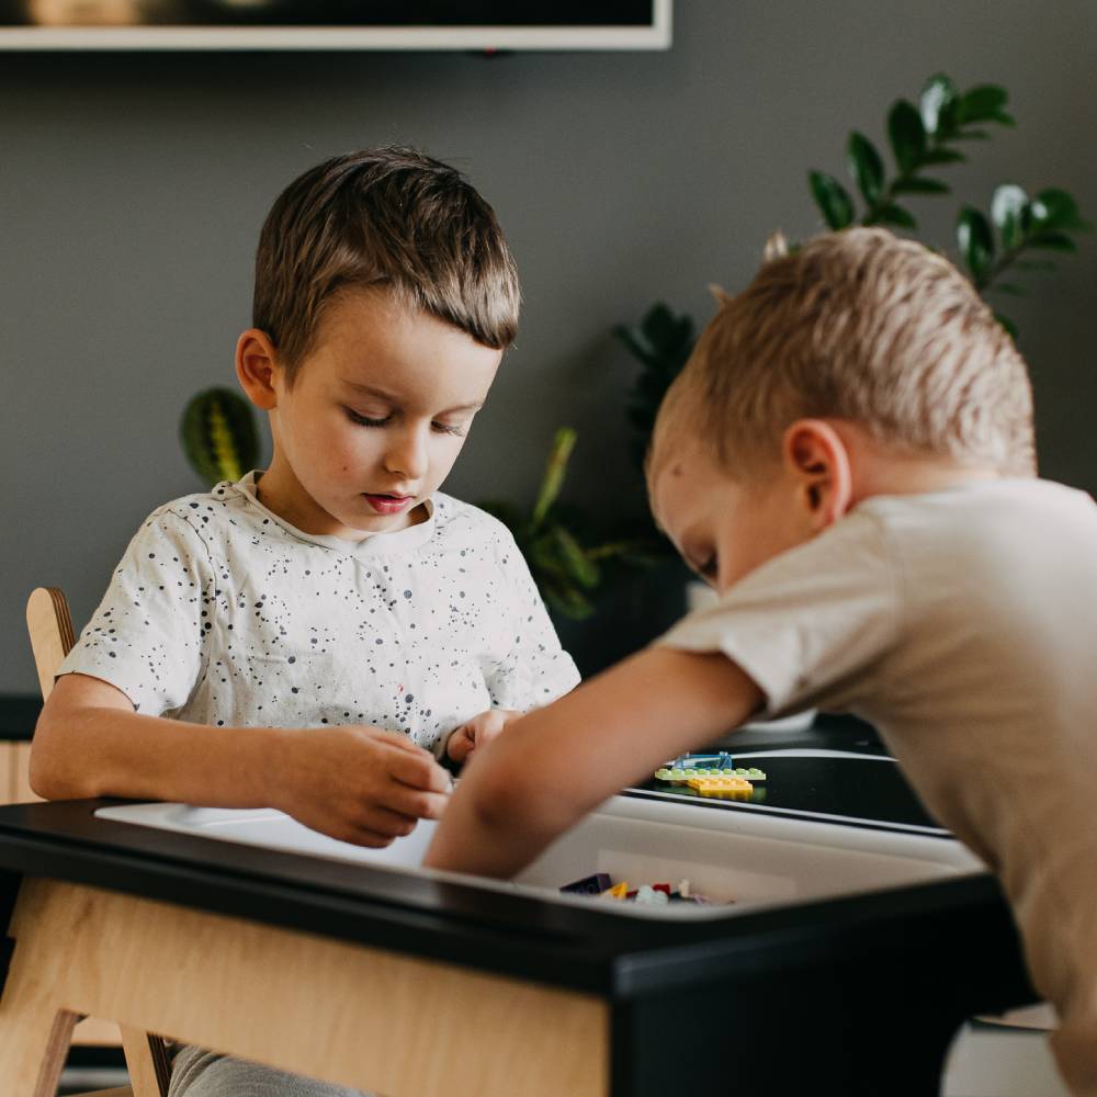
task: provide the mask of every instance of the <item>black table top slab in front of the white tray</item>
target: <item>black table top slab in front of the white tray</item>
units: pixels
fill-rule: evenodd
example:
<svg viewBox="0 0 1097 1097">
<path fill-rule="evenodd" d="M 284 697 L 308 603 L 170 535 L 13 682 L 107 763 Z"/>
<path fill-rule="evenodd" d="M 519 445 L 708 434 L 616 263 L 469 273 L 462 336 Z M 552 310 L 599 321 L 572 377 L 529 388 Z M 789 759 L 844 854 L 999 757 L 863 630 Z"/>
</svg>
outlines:
<svg viewBox="0 0 1097 1097">
<path fill-rule="evenodd" d="M 873 962 L 896 948 L 931 951 L 946 970 L 974 964 L 995 971 L 999 983 L 1027 986 L 1011 918 L 986 874 L 723 919 L 658 921 L 93 815 L 120 802 L 0 807 L 9 900 L 21 875 L 48 877 L 610 999 L 790 964 Z M 1026 1000 L 1018 993 L 1016 1000 Z"/>
</svg>

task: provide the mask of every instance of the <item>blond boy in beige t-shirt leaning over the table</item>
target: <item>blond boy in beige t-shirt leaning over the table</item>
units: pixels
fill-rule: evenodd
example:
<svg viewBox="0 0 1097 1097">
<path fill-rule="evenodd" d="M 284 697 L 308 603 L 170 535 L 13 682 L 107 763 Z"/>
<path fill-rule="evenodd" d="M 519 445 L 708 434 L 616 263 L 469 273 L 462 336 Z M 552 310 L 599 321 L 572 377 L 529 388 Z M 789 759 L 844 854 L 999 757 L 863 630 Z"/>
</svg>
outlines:
<svg viewBox="0 0 1097 1097">
<path fill-rule="evenodd" d="M 920 245 L 819 237 L 724 302 L 648 487 L 719 602 L 493 744 L 428 863 L 510 874 L 753 715 L 856 713 L 1002 877 L 1060 1067 L 1097 1095 L 1097 508 L 1036 477 L 1009 336 Z"/>
</svg>

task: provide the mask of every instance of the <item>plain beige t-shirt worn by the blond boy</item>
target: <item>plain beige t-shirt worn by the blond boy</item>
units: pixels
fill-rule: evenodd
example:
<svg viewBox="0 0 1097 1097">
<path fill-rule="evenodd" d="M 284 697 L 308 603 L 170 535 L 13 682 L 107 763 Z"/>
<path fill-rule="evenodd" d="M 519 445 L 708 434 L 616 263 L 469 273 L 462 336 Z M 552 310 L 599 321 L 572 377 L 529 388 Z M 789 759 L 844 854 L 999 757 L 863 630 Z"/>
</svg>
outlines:
<svg viewBox="0 0 1097 1097">
<path fill-rule="evenodd" d="M 778 716 L 848 711 L 1002 877 L 1061 1065 L 1097 1094 L 1097 507 L 1039 479 L 869 499 L 659 643 Z"/>
</svg>

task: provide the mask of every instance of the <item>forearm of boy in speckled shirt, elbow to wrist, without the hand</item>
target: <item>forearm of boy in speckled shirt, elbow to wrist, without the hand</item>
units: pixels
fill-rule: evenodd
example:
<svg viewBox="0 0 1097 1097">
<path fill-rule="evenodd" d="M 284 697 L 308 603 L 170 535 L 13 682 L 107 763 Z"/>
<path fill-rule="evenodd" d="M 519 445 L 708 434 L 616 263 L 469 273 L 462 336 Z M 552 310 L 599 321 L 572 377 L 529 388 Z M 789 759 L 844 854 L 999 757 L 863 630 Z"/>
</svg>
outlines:
<svg viewBox="0 0 1097 1097">
<path fill-rule="evenodd" d="M 180 725 L 111 706 L 61 712 L 35 733 L 31 783 L 48 800 L 125 796 L 211 807 L 268 806 L 285 733 Z"/>
</svg>

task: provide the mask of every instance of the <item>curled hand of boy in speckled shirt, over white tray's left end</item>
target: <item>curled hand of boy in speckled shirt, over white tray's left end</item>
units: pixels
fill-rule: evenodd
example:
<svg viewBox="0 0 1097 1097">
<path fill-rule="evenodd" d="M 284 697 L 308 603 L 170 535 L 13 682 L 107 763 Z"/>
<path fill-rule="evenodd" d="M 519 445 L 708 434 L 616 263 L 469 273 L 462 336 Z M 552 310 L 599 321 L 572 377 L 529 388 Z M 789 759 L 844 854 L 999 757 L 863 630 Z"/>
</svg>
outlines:
<svg viewBox="0 0 1097 1097">
<path fill-rule="evenodd" d="M 270 803 L 314 830 L 381 848 L 441 817 L 450 774 L 399 732 L 337 726 L 284 731 L 271 754 Z"/>
</svg>

